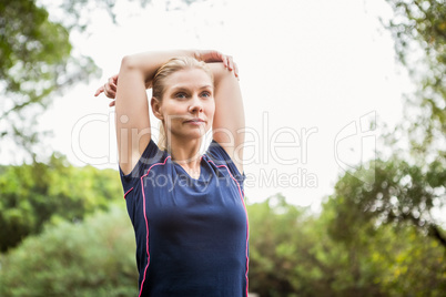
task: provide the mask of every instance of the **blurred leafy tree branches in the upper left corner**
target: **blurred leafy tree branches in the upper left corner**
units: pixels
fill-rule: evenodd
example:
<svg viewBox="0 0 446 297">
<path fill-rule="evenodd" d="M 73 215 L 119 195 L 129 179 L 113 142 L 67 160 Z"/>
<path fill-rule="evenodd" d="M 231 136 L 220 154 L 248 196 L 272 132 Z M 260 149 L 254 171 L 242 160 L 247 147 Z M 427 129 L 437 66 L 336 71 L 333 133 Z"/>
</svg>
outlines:
<svg viewBox="0 0 446 297">
<path fill-rule="evenodd" d="M 12 139 L 32 154 L 37 115 L 50 94 L 98 69 L 90 58 L 72 54 L 70 31 L 50 21 L 36 0 L 1 1 L 0 32 L 0 141 Z"/>
</svg>

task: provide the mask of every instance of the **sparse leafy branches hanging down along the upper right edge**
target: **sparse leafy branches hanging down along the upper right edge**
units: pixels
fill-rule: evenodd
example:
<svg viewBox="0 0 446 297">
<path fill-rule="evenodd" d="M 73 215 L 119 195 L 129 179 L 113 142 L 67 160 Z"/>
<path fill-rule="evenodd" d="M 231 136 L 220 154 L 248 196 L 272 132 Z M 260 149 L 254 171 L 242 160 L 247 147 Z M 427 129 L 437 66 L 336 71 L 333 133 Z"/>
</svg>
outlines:
<svg viewBox="0 0 446 297">
<path fill-rule="evenodd" d="M 436 207 L 446 204 L 446 2 L 444 0 L 387 0 L 395 17 L 387 24 L 395 40 L 395 51 L 414 80 L 417 91 L 406 94 L 408 104 L 405 121 L 396 127 L 409 140 L 409 157 L 398 147 L 401 139 L 389 133 L 387 144 L 395 152 L 393 160 L 405 160 L 418 167 L 422 174 L 429 173 L 429 183 L 436 188 Z M 407 154 L 406 154 L 407 155 Z M 406 164 L 396 161 L 398 164 Z M 407 165 L 407 164 L 406 164 Z M 413 171 L 415 167 L 413 166 Z M 404 171 L 404 168 L 403 168 Z M 443 187 L 442 187 L 443 186 Z M 429 190 L 426 190 L 429 191 Z M 413 202 L 408 213 L 424 208 L 424 204 Z M 429 208 L 429 206 L 427 206 Z M 406 217 L 416 223 L 413 217 Z M 428 221 L 430 234 L 435 234 L 442 245 L 446 236 L 436 222 Z M 443 238 L 443 239 L 442 239 Z"/>
</svg>

